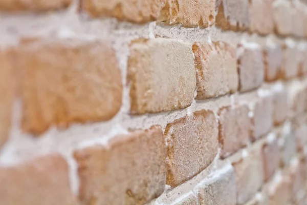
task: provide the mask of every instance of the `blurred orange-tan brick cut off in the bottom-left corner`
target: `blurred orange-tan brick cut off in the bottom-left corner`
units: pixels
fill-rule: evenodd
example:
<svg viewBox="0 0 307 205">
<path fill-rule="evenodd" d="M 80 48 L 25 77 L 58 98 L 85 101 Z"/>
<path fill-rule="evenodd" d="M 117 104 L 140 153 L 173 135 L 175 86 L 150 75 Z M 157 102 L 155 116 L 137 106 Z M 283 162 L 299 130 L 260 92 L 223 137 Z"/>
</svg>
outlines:
<svg viewBox="0 0 307 205">
<path fill-rule="evenodd" d="M 57 154 L 0 168 L 0 183 L 1 204 L 78 204 L 71 192 L 67 162 Z"/>
</svg>

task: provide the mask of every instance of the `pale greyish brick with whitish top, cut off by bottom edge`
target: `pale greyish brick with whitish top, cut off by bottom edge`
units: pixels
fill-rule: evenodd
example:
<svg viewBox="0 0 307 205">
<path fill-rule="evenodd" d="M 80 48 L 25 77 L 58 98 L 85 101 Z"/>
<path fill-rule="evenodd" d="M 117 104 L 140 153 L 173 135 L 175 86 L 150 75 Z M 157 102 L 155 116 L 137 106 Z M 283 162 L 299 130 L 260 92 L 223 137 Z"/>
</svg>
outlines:
<svg viewBox="0 0 307 205">
<path fill-rule="evenodd" d="M 235 205 L 236 184 L 232 166 L 225 166 L 212 173 L 196 187 L 200 205 Z"/>
</svg>

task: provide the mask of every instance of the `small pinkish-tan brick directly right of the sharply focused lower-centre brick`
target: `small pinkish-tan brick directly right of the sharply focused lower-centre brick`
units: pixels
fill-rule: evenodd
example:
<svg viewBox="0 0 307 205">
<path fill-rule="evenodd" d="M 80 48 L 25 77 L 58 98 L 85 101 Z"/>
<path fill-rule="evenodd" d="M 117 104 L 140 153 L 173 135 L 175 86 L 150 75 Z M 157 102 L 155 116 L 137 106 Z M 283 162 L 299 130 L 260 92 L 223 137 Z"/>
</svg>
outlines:
<svg viewBox="0 0 307 205">
<path fill-rule="evenodd" d="M 251 131 L 248 114 L 247 105 L 227 106 L 218 112 L 218 139 L 222 146 L 221 156 L 223 158 L 247 145 Z"/>
</svg>

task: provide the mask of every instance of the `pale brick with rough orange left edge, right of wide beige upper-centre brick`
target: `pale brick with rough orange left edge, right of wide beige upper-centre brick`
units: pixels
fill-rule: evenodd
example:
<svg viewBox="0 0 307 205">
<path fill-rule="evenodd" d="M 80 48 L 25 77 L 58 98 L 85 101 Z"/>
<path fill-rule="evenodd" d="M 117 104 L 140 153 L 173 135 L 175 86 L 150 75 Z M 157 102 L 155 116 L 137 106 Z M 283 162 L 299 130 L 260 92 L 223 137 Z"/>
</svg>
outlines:
<svg viewBox="0 0 307 205">
<path fill-rule="evenodd" d="M 196 99 L 234 93 L 238 90 L 235 49 L 224 42 L 195 43 Z"/>
</svg>

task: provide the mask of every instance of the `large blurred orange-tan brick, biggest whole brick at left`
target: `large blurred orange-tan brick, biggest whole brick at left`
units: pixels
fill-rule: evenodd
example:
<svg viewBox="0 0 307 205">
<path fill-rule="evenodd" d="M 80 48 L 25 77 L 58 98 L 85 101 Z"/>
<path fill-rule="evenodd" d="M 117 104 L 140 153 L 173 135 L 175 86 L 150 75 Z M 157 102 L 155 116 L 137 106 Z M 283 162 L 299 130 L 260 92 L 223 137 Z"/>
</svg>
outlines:
<svg viewBox="0 0 307 205">
<path fill-rule="evenodd" d="M 75 39 L 25 42 L 15 50 L 24 131 L 40 134 L 53 125 L 108 120 L 119 111 L 121 74 L 108 43 Z"/>
</svg>

